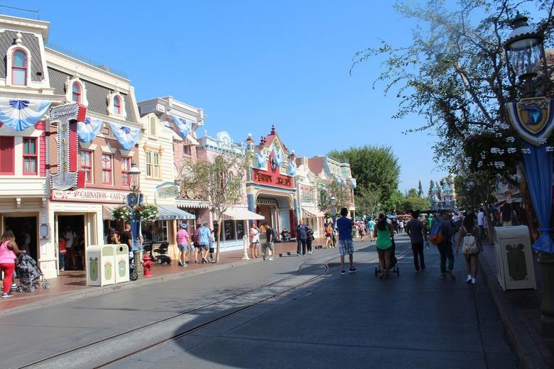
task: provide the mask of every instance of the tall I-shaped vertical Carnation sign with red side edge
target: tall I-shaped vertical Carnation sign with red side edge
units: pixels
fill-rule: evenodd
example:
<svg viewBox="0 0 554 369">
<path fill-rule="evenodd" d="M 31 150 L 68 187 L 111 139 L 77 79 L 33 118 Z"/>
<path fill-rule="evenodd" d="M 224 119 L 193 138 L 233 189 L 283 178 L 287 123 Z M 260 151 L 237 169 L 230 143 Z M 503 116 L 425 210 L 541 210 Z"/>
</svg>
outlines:
<svg viewBox="0 0 554 369">
<path fill-rule="evenodd" d="M 52 189 L 77 185 L 77 121 L 85 119 L 87 109 L 79 104 L 50 109 L 50 124 L 58 123 L 58 173 L 50 175 Z"/>
</svg>

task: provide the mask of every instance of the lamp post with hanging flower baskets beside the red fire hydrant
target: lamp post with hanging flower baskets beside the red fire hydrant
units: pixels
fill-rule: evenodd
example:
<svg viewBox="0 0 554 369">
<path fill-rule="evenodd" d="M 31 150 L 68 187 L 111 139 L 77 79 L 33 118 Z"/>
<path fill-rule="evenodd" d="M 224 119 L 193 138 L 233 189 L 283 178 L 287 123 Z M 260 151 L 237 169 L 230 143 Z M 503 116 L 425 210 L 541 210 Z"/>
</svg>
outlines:
<svg viewBox="0 0 554 369">
<path fill-rule="evenodd" d="M 127 195 L 127 206 L 131 209 L 131 234 L 133 235 L 133 246 L 129 252 L 133 253 L 133 262 L 135 264 L 136 272 L 139 276 L 142 275 L 142 263 L 141 263 L 141 250 L 142 246 L 139 241 L 139 235 L 141 232 L 141 220 L 136 218 L 134 210 L 136 206 L 142 204 L 143 196 L 141 194 L 141 170 L 131 163 L 131 168 L 127 172 L 129 175 L 129 189 L 131 192 Z"/>
</svg>

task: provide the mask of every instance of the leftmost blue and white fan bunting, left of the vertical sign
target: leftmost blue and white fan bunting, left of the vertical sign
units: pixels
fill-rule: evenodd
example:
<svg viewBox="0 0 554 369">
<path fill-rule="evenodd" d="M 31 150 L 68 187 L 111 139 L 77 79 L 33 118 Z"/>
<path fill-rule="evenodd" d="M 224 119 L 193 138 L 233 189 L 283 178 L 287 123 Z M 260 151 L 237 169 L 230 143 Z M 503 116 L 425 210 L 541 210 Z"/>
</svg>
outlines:
<svg viewBox="0 0 554 369">
<path fill-rule="evenodd" d="M 50 101 L 0 99 L 0 122 L 16 131 L 25 131 L 43 119 L 50 104 Z"/>
</svg>

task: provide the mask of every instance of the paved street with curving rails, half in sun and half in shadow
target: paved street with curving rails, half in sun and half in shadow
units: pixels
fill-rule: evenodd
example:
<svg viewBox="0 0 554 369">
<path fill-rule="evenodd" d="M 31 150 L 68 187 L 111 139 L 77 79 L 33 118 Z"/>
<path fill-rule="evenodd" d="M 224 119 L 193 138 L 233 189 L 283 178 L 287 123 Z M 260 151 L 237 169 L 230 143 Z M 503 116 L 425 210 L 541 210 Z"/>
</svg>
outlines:
<svg viewBox="0 0 554 369">
<path fill-rule="evenodd" d="M 399 238 L 397 254 L 407 250 L 406 241 L 406 236 Z M 433 249 L 426 252 L 425 272 L 413 271 L 407 253 L 400 260 L 400 277 L 379 280 L 374 276 L 375 248 L 368 245 L 357 242 L 356 274 L 341 276 L 335 258 L 323 277 L 290 292 L 291 286 L 325 271 L 323 263 L 337 250 L 3 316 L 0 326 L 11 329 L 11 339 L 1 341 L 2 366 L 18 368 L 168 318 L 36 367 L 92 368 L 207 324 L 109 368 L 516 368 L 486 286 L 463 282 L 461 260 L 456 282 L 438 278 Z M 292 274 L 302 262 L 294 277 L 257 288 Z M 285 293 L 232 314 L 281 291 Z"/>
</svg>

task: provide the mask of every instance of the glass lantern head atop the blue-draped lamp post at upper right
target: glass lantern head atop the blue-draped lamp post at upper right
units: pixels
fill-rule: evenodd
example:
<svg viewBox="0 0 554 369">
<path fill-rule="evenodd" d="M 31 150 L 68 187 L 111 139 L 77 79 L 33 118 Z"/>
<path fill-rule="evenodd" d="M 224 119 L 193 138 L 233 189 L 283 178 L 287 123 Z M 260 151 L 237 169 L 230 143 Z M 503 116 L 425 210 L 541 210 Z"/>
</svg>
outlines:
<svg viewBox="0 0 554 369">
<path fill-rule="evenodd" d="M 504 43 L 504 50 L 509 75 L 515 75 L 523 82 L 525 97 L 534 97 L 536 91 L 533 79 L 537 77 L 541 68 L 543 75 L 546 75 L 544 35 L 529 26 L 527 20 L 526 16 L 518 14 L 511 21 L 514 30 Z"/>
</svg>

